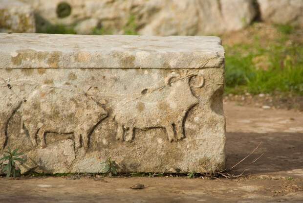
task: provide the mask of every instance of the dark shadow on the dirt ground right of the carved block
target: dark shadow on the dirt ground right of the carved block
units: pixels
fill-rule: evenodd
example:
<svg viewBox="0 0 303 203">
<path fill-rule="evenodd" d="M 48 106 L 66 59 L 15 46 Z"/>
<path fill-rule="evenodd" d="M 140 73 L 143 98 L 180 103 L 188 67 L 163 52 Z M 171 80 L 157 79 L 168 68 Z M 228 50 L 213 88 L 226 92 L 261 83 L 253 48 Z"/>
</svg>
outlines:
<svg viewBox="0 0 303 203">
<path fill-rule="evenodd" d="M 260 143 L 258 149 L 235 167 L 233 172 L 239 173 L 245 169 L 248 174 L 260 174 L 302 170 L 302 138 L 302 133 L 227 133 L 226 167 L 234 166 Z"/>
</svg>

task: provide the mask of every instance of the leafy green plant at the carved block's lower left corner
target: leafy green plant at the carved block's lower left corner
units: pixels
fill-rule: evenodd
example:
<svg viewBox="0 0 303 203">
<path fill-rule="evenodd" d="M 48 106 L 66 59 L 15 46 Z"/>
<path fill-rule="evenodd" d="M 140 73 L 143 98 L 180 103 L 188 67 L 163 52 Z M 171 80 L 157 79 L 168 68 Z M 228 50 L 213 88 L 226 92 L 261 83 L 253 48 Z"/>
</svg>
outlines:
<svg viewBox="0 0 303 203">
<path fill-rule="evenodd" d="M 19 177 L 21 175 L 21 170 L 16 164 L 16 161 L 23 163 L 25 159 L 20 158 L 20 156 L 22 156 L 23 154 L 18 153 L 18 149 L 11 151 L 9 147 L 8 151 L 5 151 L 5 153 L 6 154 L 4 154 L 3 158 L 0 158 L 0 161 L 2 161 L 1 165 L 3 167 L 2 172 L 6 174 L 6 177 Z"/>
</svg>

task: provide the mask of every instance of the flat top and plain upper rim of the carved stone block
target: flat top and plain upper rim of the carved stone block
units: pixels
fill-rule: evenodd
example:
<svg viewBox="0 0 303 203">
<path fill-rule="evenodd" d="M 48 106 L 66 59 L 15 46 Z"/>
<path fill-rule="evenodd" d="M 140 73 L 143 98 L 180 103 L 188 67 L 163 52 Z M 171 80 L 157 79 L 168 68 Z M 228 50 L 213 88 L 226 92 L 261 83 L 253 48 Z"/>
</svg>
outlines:
<svg viewBox="0 0 303 203">
<path fill-rule="evenodd" d="M 0 34 L 0 68 L 218 68 L 218 37 Z"/>
</svg>

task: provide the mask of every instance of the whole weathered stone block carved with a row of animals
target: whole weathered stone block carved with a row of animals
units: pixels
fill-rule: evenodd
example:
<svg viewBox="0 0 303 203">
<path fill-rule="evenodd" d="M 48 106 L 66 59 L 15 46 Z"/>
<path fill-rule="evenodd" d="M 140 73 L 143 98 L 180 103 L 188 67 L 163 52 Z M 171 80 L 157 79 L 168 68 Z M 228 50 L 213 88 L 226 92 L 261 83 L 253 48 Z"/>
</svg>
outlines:
<svg viewBox="0 0 303 203">
<path fill-rule="evenodd" d="M 218 171 L 223 87 L 217 37 L 0 34 L 0 150 L 23 172 Z"/>
</svg>

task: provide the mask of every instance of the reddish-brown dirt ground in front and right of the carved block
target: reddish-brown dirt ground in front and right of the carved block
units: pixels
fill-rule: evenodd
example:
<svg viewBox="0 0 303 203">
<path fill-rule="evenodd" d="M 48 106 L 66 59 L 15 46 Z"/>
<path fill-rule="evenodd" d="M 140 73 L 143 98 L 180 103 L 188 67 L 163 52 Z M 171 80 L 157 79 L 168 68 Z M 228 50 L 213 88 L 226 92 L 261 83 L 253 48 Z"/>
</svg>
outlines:
<svg viewBox="0 0 303 203">
<path fill-rule="evenodd" d="M 0 203 L 303 203 L 303 113 L 224 105 L 227 167 L 260 144 L 231 171 L 246 169 L 244 177 L 0 178 Z M 145 188 L 131 189 L 135 183 Z"/>
</svg>

